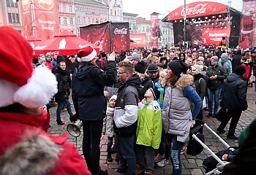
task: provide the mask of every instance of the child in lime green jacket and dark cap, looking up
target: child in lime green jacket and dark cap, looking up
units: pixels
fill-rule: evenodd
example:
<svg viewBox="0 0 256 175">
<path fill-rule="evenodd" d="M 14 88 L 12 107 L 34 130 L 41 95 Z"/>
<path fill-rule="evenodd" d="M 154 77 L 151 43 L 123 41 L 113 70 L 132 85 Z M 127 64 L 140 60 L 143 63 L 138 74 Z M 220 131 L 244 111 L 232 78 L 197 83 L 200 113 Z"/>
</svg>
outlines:
<svg viewBox="0 0 256 175">
<path fill-rule="evenodd" d="M 154 170 L 154 149 L 159 148 L 162 136 L 161 108 L 157 103 L 160 93 L 156 88 L 148 88 L 145 98 L 138 104 L 138 127 L 136 131 L 135 174 L 152 174 Z M 145 162 L 146 160 L 146 162 Z M 145 170 L 146 168 L 146 170 Z"/>
</svg>

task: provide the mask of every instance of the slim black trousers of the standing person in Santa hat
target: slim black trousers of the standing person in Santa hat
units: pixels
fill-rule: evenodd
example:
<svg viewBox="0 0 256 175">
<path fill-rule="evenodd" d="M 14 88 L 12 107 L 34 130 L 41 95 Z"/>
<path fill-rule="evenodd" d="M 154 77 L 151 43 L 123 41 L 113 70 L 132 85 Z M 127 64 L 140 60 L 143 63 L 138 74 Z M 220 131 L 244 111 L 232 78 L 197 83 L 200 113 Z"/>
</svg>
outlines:
<svg viewBox="0 0 256 175">
<path fill-rule="evenodd" d="M 99 142 L 102 136 L 103 120 L 83 121 L 83 156 L 91 173 L 99 171 Z"/>
</svg>

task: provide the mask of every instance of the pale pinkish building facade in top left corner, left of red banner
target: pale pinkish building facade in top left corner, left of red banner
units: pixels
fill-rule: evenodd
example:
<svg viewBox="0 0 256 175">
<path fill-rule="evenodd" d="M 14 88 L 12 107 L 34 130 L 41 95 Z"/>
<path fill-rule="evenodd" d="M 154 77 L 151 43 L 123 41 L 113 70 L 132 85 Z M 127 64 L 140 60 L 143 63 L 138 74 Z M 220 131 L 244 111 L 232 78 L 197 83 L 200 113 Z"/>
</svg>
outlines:
<svg viewBox="0 0 256 175">
<path fill-rule="evenodd" d="M 10 26 L 23 34 L 20 3 L 13 0 L 1 0 L 0 9 L 0 26 Z"/>
</svg>

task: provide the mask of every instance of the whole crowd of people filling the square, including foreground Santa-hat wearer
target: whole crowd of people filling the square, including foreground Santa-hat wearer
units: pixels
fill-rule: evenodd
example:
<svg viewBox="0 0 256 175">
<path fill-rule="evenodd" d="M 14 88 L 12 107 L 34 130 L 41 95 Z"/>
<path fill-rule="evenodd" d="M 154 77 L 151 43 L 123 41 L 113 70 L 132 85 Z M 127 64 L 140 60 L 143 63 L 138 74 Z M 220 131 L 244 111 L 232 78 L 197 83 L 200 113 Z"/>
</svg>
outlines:
<svg viewBox="0 0 256 175">
<path fill-rule="evenodd" d="M 247 86 L 252 85 L 256 75 L 253 49 L 152 48 L 121 51 L 120 55 L 118 52 L 97 55 L 93 47 L 86 46 L 76 55 L 41 54 L 33 60 L 33 71 L 32 59 L 29 60 L 32 50 L 26 40 L 7 27 L 0 30 L 1 39 L 11 41 L 8 46 L 1 44 L 0 50 L 1 57 L 8 60 L 0 75 L 0 124 L 1 128 L 10 126 L 1 129 L 4 141 L 0 144 L 0 174 L 19 174 L 28 168 L 31 174 L 108 174 L 99 166 L 99 144 L 104 134 L 108 136 L 109 162 L 113 161 L 114 143 L 119 174 L 153 174 L 155 163 L 164 167 L 171 160 L 172 174 L 180 175 L 181 154 L 186 150 L 195 120 L 216 117 L 220 108 L 226 111 L 227 117 L 217 131 L 225 133 L 231 119 L 227 139 L 238 139 L 236 125 L 241 112 L 247 109 Z M 5 52 L 7 47 L 16 52 Z M 15 65 L 23 74 L 13 73 Z M 39 71 L 45 77 L 39 77 L 42 76 L 36 73 Z M 33 77 L 41 78 L 42 82 L 37 85 Z M 26 87 L 31 84 L 34 86 Z M 71 122 L 82 121 L 86 163 L 75 147 L 65 141 L 67 135 L 54 138 L 47 134 L 49 109 L 54 102 L 58 104 L 59 125 L 64 125 L 61 120 L 64 106 Z M 44 105 L 48 112 L 42 110 Z M 208 110 L 206 116 L 203 110 Z M 10 140 L 14 132 L 15 137 Z M 16 151 L 16 155 L 22 156 L 18 149 L 23 144 L 29 145 L 26 149 L 31 158 L 28 159 L 34 161 L 37 155 L 43 155 L 39 158 L 42 160 L 33 163 L 28 160 L 26 165 L 10 168 L 13 167 L 10 155 Z M 48 149 L 36 150 L 31 148 L 34 145 Z M 44 166 L 33 166 L 37 163 Z"/>
</svg>

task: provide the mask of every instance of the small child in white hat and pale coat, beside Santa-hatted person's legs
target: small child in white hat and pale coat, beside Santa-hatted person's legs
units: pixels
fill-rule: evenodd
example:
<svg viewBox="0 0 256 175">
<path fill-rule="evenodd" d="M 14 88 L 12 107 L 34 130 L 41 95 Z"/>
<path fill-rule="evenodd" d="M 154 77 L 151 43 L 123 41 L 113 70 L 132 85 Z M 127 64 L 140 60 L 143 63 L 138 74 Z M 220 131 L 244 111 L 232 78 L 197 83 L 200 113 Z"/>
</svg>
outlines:
<svg viewBox="0 0 256 175">
<path fill-rule="evenodd" d="M 102 133 L 103 135 L 107 135 L 108 136 L 108 148 L 107 148 L 107 152 L 108 152 L 108 162 L 112 162 L 113 159 L 111 157 L 111 147 L 113 144 L 113 137 L 114 137 L 114 131 L 113 131 L 113 114 L 114 114 L 114 109 L 115 109 L 115 105 L 116 105 L 116 95 L 113 95 L 108 103 L 108 107 L 107 107 L 107 112 L 106 112 L 106 117 L 103 120 L 103 129 L 102 129 Z"/>
</svg>

